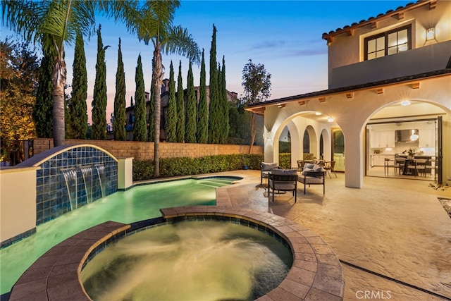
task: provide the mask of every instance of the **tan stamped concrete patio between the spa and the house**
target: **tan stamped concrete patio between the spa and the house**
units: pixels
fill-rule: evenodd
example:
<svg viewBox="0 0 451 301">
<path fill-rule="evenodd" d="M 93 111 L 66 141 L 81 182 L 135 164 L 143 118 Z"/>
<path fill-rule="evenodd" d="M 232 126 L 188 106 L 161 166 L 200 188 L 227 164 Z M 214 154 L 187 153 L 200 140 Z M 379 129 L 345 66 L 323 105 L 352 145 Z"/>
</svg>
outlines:
<svg viewBox="0 0 451 301">
<path fill-rule="evenodd" d="M 345 271 L 345 300 L 451 300 L 451 219 L 428 181 L 364 178 L 346 188 L 345 175 L 298 188 L 268 202 L 259 171 L 218 188 L 218 205 L 268 211 L 306 226 L 325 240 Z"/>
</svg>

